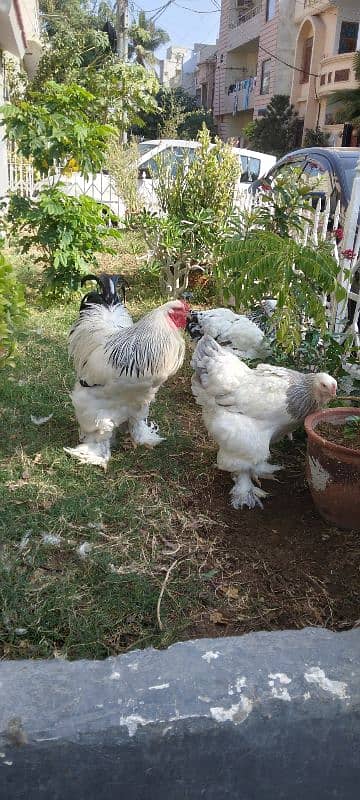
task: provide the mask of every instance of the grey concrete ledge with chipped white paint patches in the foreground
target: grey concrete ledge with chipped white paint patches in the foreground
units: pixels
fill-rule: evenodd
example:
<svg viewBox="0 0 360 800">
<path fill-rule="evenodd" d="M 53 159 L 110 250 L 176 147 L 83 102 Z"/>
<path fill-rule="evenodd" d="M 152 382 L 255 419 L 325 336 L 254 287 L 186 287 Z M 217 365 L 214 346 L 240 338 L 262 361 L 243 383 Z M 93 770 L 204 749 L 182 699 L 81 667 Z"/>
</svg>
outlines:
<svg viewBox="0 0 360 800">
<path fill-rule="evenodd" d="M 1 800 L 357 800 L 360 630 L 0 664 Z"/>
</svg>

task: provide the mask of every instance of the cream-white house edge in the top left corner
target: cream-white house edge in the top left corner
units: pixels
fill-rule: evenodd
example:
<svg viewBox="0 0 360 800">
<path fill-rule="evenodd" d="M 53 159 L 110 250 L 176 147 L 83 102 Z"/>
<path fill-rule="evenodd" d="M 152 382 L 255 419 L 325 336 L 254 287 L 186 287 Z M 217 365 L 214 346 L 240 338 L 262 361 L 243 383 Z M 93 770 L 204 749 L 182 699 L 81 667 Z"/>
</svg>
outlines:
<svg viewBox="0 0 360 800">
<path fill-rule="evenodd" d="M 23 67 L 32 76 L 40 58 L 37 0 L 0 0 L 0 105 L 8 97 L 7 65 Z M 8 188 L 8 152 L 0 128 L 0 197 Z"/>
</svg>

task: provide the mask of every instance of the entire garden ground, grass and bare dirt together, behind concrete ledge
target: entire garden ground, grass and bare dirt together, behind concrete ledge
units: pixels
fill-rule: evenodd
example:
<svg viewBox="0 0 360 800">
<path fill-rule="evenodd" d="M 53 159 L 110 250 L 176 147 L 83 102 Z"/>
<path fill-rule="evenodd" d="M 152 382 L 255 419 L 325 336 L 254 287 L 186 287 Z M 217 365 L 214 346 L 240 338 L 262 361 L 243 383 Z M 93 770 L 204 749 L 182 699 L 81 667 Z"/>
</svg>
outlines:
<svg viewBox="0 0 360 800">
<path fill-rule="evenodd" d="M 102 262 L 129 275 L 135 316 L 162 302 L 140 249 L 124 240 Z M 119 437 L 106 474 L 80 465 L 63 452 L 78 441 L 67 335 L 79 301 L 44 310 L 31 266 L 19 271 L 29 316 L 0 395 L 0 656 L 103 658 L 190 636 L 350 626 L 359 544 L 316 517 L 303 439 L 283 450 L 264 512 L 231 509 L 187 358 L 152 410 L 166 442 L 149 451 Z"/>
</svg>

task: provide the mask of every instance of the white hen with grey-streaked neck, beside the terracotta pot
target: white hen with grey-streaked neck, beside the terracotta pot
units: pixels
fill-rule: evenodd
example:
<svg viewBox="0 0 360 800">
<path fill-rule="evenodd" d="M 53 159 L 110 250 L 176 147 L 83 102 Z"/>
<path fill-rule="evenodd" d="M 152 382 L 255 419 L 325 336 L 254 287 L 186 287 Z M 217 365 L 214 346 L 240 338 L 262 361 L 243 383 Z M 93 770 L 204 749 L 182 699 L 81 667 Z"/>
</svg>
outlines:
<svg viewBox="0 0 360 800">
<path fill-rule="evenodd" d="M 250 369 L 210 336 L 192 358 L 192 391 L 209 434 L 219 446 L 217 466 L 231 472 L 234 508 L 262 508 L 260 478 L 281 467 L 268 463 L 269 447 L 295 430 L 312 411 L 335 397 L 337 383 L 325 372 L 306 374 L 259 364 Z"/>
</svg>

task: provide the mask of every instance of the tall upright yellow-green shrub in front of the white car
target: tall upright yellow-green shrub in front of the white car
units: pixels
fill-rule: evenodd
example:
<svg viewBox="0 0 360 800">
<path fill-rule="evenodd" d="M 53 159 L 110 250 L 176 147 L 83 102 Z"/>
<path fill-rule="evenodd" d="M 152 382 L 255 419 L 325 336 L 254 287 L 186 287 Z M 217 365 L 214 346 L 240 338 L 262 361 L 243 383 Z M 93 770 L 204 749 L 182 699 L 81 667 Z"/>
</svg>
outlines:
<svg viewBox="0 0 360 800">
<path fill-rule="evenodd" d="M 189 271 L 199 265 L 210 270 L 220 242 L 231 224 L 239 166 L 221 141 L 211 145 L 209 131 L 199 134 L 200 146 L 190 161 L 158 161 L 156 192 L 161 215 L 137 219 L 154 254 L 163 290 L 179 294 Z"/>
</svg>

